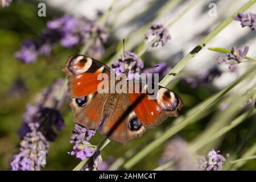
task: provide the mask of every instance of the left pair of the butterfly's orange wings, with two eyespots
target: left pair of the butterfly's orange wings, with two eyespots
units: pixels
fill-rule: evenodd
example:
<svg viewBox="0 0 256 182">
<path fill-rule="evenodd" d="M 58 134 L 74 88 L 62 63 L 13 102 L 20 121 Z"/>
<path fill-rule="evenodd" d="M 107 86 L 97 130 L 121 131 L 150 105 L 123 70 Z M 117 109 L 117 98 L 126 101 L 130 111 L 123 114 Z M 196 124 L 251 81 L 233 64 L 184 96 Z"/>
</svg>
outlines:
<svg viewBox="0 0 256 182">
<path fill-rule="evenodd" d="M 97 93 L 101 82 L 97 78 L 100 73 L 110 75 L 110 68 L 91 57 L 73 55 L 68 57 L 63 71 L 68 76 L 74 122 L 88 129 L 97 129 L 104 118 L 104 106 L 108 100 L 108 94 Z"/>
</svg>

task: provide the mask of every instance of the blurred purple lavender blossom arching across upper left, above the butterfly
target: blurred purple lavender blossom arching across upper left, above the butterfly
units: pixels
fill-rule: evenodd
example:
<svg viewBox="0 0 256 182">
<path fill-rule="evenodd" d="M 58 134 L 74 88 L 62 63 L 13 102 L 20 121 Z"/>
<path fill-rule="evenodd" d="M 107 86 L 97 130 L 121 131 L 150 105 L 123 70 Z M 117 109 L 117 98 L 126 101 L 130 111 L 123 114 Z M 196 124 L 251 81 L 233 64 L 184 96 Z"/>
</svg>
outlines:
<svg viewBox="0 0 256 182">
<path fill-rule="evenodd" d="M 104 53 L 103 43 L 109 37 L 106 28 L 99 26 L 96 20 L 64 15 L 49 20 L 46 30 L 37 39 L 25 40 L 15 57 L 24 63 L 35 62 L 38 55 L 49 55 L 58 42 L 66 48 L 81 46 L 88 42 L 92 34 L 96 34 L 96 41 L 89 47 L 88 54 L 99 59 Z"/>
</svg>

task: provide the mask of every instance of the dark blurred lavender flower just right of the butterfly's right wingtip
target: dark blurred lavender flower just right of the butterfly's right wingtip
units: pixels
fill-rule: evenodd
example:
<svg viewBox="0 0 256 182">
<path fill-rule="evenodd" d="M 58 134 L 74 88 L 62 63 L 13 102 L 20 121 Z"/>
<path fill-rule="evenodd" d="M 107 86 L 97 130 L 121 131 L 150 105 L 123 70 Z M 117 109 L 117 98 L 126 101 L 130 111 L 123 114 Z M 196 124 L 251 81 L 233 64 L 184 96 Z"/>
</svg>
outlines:
<svg viewBox="0 0 256 182">
<path fill-rule="evenodd" d="M 191 88 L 196 88 L 197 86 L 206 84 L 214 80 L 214 78 L 221 76 L 222 72 L 218 67 L 213 67 L 208 69 L 207 71 L 203 71 L 198 73 L 192 77 L 185 77 L 183 80 L 186 84 L 190 85 Z"/>
</svg>

